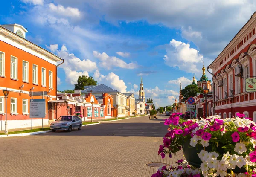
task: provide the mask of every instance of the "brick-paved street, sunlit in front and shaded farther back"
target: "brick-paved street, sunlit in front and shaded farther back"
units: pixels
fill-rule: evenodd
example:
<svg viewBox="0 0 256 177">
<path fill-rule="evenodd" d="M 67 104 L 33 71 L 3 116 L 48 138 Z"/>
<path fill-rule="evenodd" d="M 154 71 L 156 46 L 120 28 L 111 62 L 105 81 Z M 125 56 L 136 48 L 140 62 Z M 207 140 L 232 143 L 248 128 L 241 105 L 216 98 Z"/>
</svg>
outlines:
<svg viewBox="0 0 256 177">
<path fill-rule="evenodd" d="M 83 127 L 81 131 L 1 138 L 4 177 L 149 177 L 161 159 L 158 147 L 167 132 L 163 119 L 148 116 Z M 3 165 L 5 164 L 5 165 Z"/>
</svg>

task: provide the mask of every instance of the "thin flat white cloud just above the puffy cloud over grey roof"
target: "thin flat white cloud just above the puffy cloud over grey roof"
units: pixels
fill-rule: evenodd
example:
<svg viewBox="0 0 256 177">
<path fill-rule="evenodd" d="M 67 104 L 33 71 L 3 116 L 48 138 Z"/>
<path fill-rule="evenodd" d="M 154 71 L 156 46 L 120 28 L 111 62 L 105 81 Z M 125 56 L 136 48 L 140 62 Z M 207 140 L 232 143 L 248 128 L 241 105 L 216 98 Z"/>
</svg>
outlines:
<svg viewBox="0 0 256 177">
<path fill-rule="evenodd" d="M 93 55 L 94 57 L 98 58 L 101 61 L 99 64 L 108 70 L 110 70 L 113 66 L 125 68 L 125 69 L 135 69 L 139 67 L 137 65 L 137 62 L 131 62 L 127 64 L 125 61 L 123 61 L 120 58 L 117 58 L 115 56 L 108 56 L 108 54 L 106 54 L 105 52 L 101 54 L 97 51 L 93 51 Z"/>
</svg>

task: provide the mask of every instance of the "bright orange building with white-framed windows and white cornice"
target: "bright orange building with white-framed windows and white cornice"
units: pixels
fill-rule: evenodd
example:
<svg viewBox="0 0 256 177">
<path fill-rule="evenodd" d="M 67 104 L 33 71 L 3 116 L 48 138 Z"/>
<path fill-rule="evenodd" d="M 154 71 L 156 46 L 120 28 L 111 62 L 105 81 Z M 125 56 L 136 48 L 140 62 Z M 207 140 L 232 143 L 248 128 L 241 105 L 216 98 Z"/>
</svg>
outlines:
<svg viewBox="0 0 256 177">
<path fill-rule="evenodd" d="M 52 101 L 57 94 L 57 67 L 64 60 L 26 40 L 26 32 L 18 24 L 0 26 L 0 130 L 5 129 L 6 114 L 8 129 L 31 126 L 30 91 L 47 92 L 33 96 L 46 101 L 43 124 L 55 117 Z M 6 88 L 10 91 L 7 105 L 2 91 Z M 41 125 L 42 118 L 33 118 L 33 126 Z"/>
</svg>

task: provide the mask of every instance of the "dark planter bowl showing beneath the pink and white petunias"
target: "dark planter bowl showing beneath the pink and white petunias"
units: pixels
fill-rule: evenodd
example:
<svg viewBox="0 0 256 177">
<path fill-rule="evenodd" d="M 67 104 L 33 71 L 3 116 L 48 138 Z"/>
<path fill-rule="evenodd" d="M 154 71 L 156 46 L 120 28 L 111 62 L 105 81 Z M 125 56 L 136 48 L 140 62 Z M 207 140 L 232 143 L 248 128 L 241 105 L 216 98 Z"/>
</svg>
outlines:
<svg viewBox="0 0 256 177">
<path fill-rule="evenodd" d="M 199 168 L 202 161 L 198 157 L 198 154 L 200 153 L 201 150 L 204 149 L 204 147 L 201 145 L 197 145 L 197 147 L 192 147 L 191 145 L 189 145 L 189 143 L 190 143 L 190 139 L 187 139 L 186 141 L 184 141 L 182 143 L 183 154 L 186 158 L 186 161 L 189 163 L 189 165 Z M 208 147 L 205 147 L 204 150 L 210 152 L 210 151 L 212 151 L 212 146 L 209 145 Z M 218 149 L 218 153 L 223 154 L 224 151 L 222 149 Z M 230 173 L 229 169 L 227 171 L 228 171 L 228 173 Z M 238 168 L 237 166 L 232 171 L 234 173 L 247 172 L 247 170 L 245 170 L 245 168 Z"/>
</svg>

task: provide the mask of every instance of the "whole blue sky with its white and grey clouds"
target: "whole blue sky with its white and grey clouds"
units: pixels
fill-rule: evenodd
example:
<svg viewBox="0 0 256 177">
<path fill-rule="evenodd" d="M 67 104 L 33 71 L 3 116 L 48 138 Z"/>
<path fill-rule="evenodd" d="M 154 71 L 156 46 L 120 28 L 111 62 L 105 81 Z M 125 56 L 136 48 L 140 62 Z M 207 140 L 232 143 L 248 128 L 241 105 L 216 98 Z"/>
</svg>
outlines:
<svg viewBox="0 0 256 177">
<path fill-rule="evenodd" d="M 156 106 L 178 97 L 179 83 L 199 79 L 249 20 L 254 0 L 9 0 L 0 24 L 27 28 L 26 38 L 65 59 L 58 90 L 73 89 L 79 75 Z M 210 75 L 208 77 L 211 79 Z"/>
</svg>

